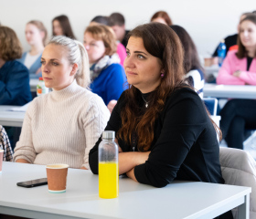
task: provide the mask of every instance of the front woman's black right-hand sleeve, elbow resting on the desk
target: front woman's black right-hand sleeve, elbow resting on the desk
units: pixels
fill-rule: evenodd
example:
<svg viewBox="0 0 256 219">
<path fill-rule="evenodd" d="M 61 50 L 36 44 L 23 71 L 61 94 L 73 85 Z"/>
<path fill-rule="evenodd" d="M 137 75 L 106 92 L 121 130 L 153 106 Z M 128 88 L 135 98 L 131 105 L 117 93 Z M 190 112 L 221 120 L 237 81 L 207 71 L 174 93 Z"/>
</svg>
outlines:
<svg viewBox="0 0 256 219">
<path fill-rule="evenodd" d="M 196 93 L 177 92 L 166 105 L 163 128 L 148 160 L 134 168 L 139 183 L 155 187 L 164 187 L 176 178 L 187 153 L 207 126 L 207 114 Z"/>
</svg>

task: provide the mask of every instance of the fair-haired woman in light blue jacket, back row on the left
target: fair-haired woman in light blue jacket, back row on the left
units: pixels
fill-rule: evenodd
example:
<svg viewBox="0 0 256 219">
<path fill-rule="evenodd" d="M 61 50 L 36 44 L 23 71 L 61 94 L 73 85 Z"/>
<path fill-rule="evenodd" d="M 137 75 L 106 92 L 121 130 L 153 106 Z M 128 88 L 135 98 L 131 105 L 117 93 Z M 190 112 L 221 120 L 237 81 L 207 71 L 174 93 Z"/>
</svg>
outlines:
<svg viewBox="0 0 256 219">
<path fill-rule="evenodd" d="M 48 31 L 42 22 L 32 20 L 27 23 L 25 35 L 31 49 L 23 53 L 18 61 L 28 68 L 30 78 L 42 77 L 41 56 L 47 43 Z"/>
</svg>

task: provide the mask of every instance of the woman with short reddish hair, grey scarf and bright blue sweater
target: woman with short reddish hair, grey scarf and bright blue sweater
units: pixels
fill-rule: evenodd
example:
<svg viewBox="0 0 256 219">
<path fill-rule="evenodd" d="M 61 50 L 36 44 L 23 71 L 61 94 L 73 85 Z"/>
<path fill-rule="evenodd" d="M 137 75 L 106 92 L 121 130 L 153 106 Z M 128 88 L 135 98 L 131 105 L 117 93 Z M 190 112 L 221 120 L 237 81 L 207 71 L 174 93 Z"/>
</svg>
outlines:
<svg viewBox="0 0 256 219">
<path fill-rule="evenodd" d="M 91 65 L 91 91 L 108 106 L 111 100 L 119 99 L 126 82 L 124 69 L 115 53 L 115 38 L 110 27 L 100 25 L 88 26 L 83 39 Z"/>
</svg>

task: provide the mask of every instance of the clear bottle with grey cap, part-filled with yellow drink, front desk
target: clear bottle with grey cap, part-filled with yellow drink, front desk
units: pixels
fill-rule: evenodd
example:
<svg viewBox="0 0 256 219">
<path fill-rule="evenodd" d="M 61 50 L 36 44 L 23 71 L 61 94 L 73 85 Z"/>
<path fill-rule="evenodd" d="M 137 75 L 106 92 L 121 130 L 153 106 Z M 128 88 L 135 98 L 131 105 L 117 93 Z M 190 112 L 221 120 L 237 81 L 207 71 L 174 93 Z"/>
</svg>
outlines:
<svg viewBox="0 0 256 219">
<path fill-rule="evenodd" d="M 99 196 L 104 199 L 119 195 L 118 146 L 115 133 L 105 130 L 99 145 Z"/>
</svg>

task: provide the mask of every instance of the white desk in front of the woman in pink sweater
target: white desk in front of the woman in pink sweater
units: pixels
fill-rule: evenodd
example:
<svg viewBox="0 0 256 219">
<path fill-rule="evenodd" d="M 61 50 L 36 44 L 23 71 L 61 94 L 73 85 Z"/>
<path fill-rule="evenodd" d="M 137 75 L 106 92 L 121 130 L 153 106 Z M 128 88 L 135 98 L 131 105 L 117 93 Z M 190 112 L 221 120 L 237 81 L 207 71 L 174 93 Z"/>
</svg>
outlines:
<svg viewBox="0 0 256 219">
<path fill-rule="evenodd" d="M 205 84 L 204 97 L 225 99 L 256 99 L 256 86 Z"/>
</svg>

